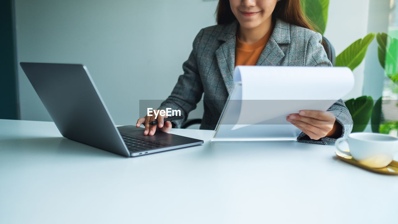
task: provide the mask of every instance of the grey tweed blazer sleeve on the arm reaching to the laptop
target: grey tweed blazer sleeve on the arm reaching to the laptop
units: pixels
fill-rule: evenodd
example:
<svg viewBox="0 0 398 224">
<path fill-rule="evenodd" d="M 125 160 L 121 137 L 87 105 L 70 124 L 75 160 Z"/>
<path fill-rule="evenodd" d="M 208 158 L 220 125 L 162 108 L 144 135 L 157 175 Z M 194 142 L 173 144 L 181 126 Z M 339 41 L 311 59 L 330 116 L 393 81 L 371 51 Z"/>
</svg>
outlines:
<svg viewBox="0 0 398 224">
<path fill-rule="evenodd" d="M 173 128 L 180 128 L 185 120 L 187 120 L 188 113 L 196 108 L 196 104 L 202 98 L 203 85 L 200 79 L 198 65 L 197 65 L 197 47 L 199 41 L 203 35 L 203 29 L 196 35 L 193 44 L 192 51 L 182 65 L 183 75 L 178 77 L 176 86 L 170 96 L 160 104 L 158 109 L 166 110 L 166 108 L 172 108 L 172 110 L 180 110 L 182 120 L 172 122 Z"/>
</svg>

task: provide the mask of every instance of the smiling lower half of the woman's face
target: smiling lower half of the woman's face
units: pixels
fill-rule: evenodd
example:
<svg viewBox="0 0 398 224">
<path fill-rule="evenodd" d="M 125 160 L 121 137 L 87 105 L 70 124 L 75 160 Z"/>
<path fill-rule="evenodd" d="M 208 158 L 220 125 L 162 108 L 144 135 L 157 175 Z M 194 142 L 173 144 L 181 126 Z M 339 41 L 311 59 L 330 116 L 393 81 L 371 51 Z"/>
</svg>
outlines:
<svg viewBox="0 0 398 224">
<path fill-rule="evenodd" d="M 229 0 L 232 13 L 241 27 L 252 29 L 271 18 L 279 0 Z"/>
</svg>

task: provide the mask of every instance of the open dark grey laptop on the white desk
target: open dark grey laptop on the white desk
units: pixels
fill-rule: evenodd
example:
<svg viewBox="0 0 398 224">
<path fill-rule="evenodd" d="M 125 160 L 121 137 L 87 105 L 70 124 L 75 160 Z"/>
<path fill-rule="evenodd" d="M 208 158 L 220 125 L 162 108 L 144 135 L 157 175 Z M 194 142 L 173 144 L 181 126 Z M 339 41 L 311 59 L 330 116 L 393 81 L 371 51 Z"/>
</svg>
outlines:
<svg viewBox="0 0 398 224">
<path fill-rule="evenodd" d="M 20 63 L 59 132 L 65 138 L 125 157 L 200 145 L 202 140 L 144 128 L 116 127 L 86 66 Z"/>
</svg>

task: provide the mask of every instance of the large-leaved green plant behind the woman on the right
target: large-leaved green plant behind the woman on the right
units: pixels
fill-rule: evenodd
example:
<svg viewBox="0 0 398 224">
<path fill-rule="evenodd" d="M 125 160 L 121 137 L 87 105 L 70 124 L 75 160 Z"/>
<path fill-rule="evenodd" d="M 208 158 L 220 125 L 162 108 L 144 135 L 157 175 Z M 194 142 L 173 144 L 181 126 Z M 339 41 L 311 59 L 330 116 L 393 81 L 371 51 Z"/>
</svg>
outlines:
<svg viewBox="0 0 398 224">
<path fill-rule="evenodd" d="M 329 0 L 302 0 L 301 4 L 304 14 L 313 22 L 315 30 L 323 35 L 328 21 Z M 390 70 L 386 71 L 386 74 L 391 81 L 398 84 L 398 40 L 388 37 L 386 33 L 369 33 L 363 39 L 356 40 L 336 57 L 336 66 L 349 67 L 353 71 L 365 58 L 368 46 L 375 36 L 380 65 L 383 68 L 386 68 L 386 62 L 388 65 L 394 65 L 389 66 Z M 372 132 L 388 134 L 386 132 L 391 128 L 397 129 L 398 121 L 382 123 L 382 97 L 378 98 L 375 105 L 373 103 L 371 96 L 360 96 L 345 101 L 354 122 L 352 132 L 363 132 L 370 119 Z"/>
</svg>

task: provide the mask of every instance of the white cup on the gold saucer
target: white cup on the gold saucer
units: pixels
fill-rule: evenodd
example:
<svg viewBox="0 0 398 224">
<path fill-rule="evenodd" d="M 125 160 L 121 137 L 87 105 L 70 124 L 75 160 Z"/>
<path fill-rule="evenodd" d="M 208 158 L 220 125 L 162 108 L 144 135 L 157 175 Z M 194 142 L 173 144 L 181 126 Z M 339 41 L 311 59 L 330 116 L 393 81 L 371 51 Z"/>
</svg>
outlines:
<svg viewBox="0 0 398 224">
<path fill-rule="evenodd" d="M 349 152 L 339 147 L 341 141 L 346 141 Z M 339 138 L 336 141 L 338 151 L 351 155 L 355 160 L 369 167 L 386 167 L 394 159 L 398 152 L 398 138 L 377 133 L 356 132 L 347 138 Z"/>
</svg>

